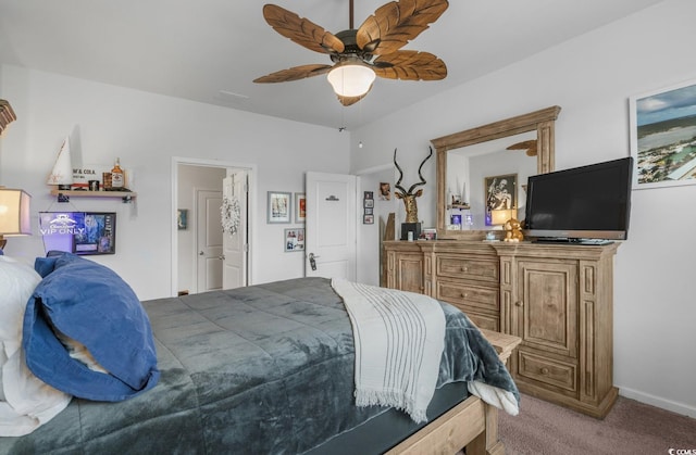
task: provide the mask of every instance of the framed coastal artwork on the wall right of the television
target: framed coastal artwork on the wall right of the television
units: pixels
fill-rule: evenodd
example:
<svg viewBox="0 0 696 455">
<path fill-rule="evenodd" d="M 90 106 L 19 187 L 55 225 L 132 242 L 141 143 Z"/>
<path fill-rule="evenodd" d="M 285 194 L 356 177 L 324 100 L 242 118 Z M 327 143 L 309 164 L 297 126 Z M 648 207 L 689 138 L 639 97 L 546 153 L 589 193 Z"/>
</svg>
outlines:
<svg viewBox="0 0 696 455">
<path fill-rule="evenodd" d="M 631 97 L 633 188 L 696 184 L 696 80 Z"/>
</svg>

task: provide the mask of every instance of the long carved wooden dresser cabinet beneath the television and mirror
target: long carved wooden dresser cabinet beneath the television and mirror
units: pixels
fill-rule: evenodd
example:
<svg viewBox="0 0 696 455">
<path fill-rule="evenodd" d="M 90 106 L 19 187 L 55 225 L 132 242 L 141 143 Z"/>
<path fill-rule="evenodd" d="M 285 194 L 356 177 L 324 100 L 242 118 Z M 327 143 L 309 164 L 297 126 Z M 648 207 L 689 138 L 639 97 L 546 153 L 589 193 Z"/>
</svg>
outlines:
<svg viewBox="0 0 696 455">
<path fill-rule="evenodd" d="M 481 328 L 520 337 L 509 367 L 522 392 L 604 417 L 618 394 L 612 374 L 617 248 L 385 242 L 386 282 L 451 303 Z"/>
</svg>

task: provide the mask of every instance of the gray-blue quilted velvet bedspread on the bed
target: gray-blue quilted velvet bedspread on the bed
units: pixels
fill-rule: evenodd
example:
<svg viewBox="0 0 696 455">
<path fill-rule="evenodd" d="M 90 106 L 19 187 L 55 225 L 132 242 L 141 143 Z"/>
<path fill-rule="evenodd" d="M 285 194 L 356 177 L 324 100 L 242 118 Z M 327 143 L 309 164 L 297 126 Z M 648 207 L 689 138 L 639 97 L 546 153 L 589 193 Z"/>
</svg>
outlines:
<svg viewBox="0 0 696 455">
<path fill-rule="evenodd" d="M 160 382 L 120 403 L 74 399 L 12 454 L 295 454 L 383 413 L 356 407 L 350 320 L 323 278 L 144 302 Z M 438 384 L 517 388 L 495 350 L 443 303 Z"/>
</svg>

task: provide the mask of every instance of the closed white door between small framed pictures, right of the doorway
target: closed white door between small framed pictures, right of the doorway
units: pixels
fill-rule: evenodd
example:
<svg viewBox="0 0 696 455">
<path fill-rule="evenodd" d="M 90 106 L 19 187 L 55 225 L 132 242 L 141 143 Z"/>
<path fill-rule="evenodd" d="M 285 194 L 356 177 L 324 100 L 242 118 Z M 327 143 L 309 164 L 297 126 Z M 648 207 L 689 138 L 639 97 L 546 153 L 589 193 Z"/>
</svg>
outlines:
<svg viewBox="0 0 696 455">
<path fill-rule="evenodd" d="M 307 173 L 304 275 L 356 280 L 357 177 Z"/>
</svg>

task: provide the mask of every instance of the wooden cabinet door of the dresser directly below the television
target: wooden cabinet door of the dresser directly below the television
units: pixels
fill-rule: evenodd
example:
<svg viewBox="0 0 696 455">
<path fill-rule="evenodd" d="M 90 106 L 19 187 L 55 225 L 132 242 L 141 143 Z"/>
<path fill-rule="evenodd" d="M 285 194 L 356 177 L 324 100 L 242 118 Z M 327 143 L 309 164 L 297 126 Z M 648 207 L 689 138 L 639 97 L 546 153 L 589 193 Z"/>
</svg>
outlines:
<svg viewBox="0 0 696 455">
<path fill-rule="evenodd" d="M 518 261 L 518 321 L 523 345 L 577 357 L 577 263 Z"/>
</svg>

